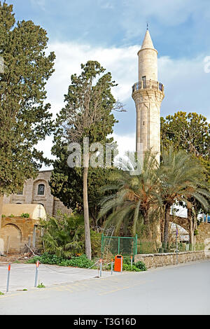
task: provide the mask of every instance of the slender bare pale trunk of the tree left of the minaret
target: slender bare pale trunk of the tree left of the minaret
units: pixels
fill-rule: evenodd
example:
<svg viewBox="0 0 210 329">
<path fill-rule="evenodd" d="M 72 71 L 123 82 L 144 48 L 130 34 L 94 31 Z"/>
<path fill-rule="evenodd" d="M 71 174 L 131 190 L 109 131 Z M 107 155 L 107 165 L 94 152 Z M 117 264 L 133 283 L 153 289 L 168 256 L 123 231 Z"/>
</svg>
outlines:
<svg viewBox="0 0 210 329">
<path fill-rule="evenodd" d="M 91 241 L 90 241 L 90 221 L 87 198 L 87 174 L 88 167 L 83 168 L 83 208 L 85 221 L 85 254 L 88 259 L 91 259 Z"/>
</svg>

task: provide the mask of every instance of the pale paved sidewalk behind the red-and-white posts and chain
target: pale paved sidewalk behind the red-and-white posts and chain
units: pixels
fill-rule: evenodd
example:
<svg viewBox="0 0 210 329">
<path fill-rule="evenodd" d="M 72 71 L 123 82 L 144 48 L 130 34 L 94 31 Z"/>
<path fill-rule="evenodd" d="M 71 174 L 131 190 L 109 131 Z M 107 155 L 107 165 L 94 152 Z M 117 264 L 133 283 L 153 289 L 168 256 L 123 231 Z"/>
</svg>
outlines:
<svg viewBox="0 0 210 329">
<path fill-rule="evenodd" d="M 34 288 L 36 264 L 15 264 L 10 267 L 9 292 Z M 113 272 L 113 276 L 122 273 Z M 8 265 L 0 263 L 0 291 L 6 293 Z M 40 264 L 38 267 L 38 283 L 44 286 L 71 283 L 84 279 L 98 279 L 97 269 L 83 269 L 75 267 L 62 267 L 56 265 Z M 111 276 L 111 271 L 103 271 L 102 278 Z"/>
</svg>

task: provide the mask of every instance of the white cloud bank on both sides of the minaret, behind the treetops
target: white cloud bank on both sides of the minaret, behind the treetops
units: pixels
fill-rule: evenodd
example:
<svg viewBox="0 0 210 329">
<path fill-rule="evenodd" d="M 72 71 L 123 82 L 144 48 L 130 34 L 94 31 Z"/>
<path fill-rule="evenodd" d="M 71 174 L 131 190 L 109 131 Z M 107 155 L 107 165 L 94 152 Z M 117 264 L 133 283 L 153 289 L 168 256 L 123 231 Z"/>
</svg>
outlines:
<svg viewBox="0 0 210 329">
<path fill-rule="evenodd" d="M 107 71 L 111 71 L 118 87 L 113 88 L 113 94 L 121 102 L 132 100 L 132 85 L 137 82 L 138 59 L 137 51 L 140 45 L 124 48 L 101 48 L 80 45 L 78 43 L 51 43 L 49 51 L 55 51 L 55 73 L 48 81 L 48 102 L 52 104 L 52 113 L 62 109 L 64 94 L 71 83 L 71 74 L 80 73 L 80 64 L 87 60 L 97 60 Z M 165 85 L 165 99 L 162 102 L 161 115 L 173 114 L 176 111 L 197 112 L 209 117 L 209 82 L 210 73 L 204 72 L 204 57 L 200 55 L 193 59 L 172 59 L 160 57 L 159 80 Z M 134 102 L 130 102 L 133 104 Z M 129 111 L 127 115 L 134 111 Z M 135 127 L 132 134 L 127 134 L 127 123 L 122 120 L 118 127 L 122 133 L 113 134 L 118 141 L 120 152 L 127 148 L 135 148 Z M 46 143 L 46 144 L 45 144 Z M 48 140 L 41 144 L 41 149 L 49 153 Z"/>
</svg>

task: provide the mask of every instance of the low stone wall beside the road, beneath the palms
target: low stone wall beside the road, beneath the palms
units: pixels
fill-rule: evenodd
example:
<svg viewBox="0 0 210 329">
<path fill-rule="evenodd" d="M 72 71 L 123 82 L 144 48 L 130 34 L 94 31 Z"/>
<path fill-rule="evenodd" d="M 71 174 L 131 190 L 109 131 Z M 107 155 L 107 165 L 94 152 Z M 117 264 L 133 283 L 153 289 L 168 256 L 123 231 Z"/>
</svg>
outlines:
<svg viewBox="0 0 210 329">
<path fill-rule="evenodd" d="M 178 253 L 178 263 L 210 259 L 210 251 L 184 251 Z M 134 262 L 141 260 L 147 268 L 176 264 L 176 253 L 148 253 L 135 255 Z"/>
</svg>

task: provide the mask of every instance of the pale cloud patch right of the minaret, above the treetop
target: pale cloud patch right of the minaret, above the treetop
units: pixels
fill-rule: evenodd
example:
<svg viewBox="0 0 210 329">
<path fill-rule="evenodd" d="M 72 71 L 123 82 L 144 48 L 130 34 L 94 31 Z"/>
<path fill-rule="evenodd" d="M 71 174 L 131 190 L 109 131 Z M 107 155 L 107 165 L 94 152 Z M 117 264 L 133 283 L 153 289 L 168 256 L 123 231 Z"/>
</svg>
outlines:
<svg viewBox="0 0 210 329">
<path fill-rule="evenodd" d="M 165 85 L 164 116 L 176 111 L 197 112 L 210 122 L 210 73 L 204 70 L 205 55 L 195 58 L 160 57 L 159 80 Z"/>
</svg>

